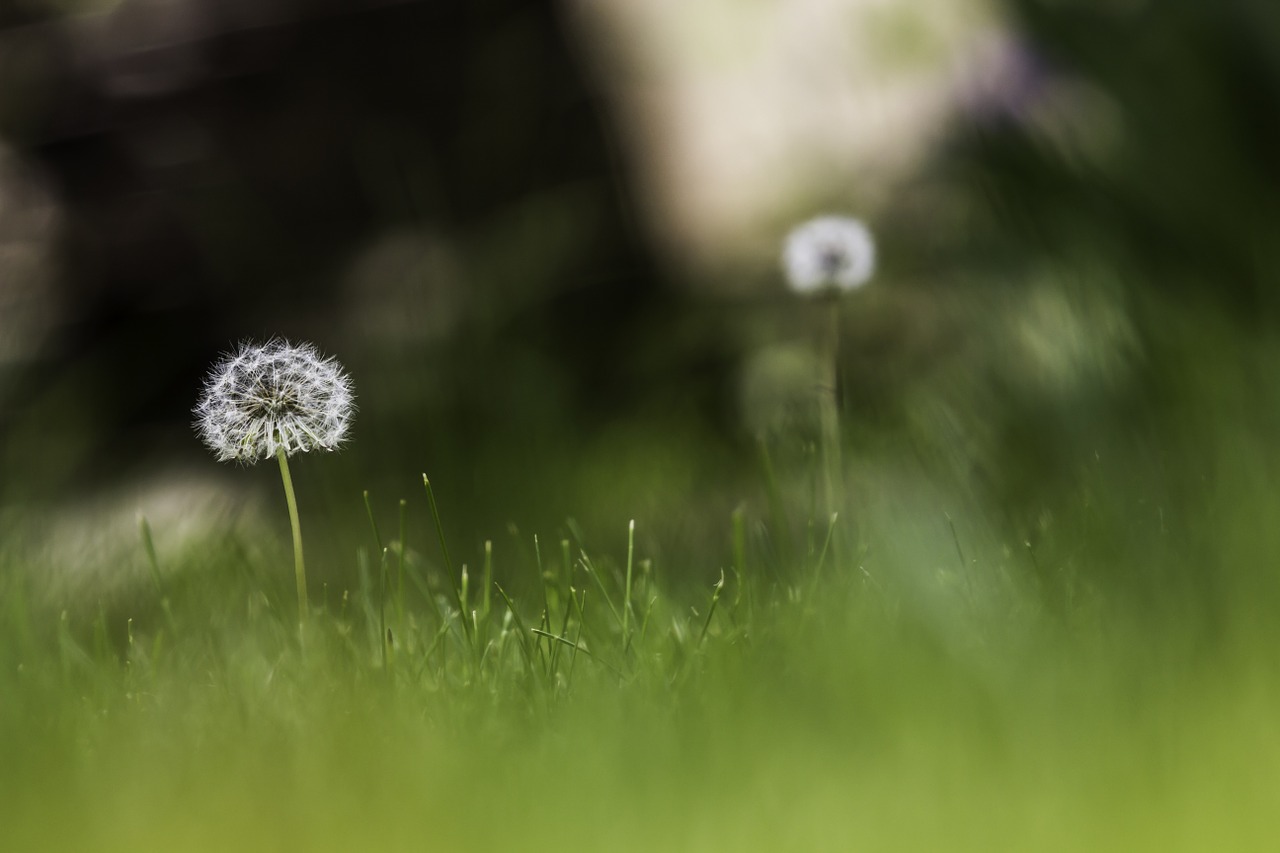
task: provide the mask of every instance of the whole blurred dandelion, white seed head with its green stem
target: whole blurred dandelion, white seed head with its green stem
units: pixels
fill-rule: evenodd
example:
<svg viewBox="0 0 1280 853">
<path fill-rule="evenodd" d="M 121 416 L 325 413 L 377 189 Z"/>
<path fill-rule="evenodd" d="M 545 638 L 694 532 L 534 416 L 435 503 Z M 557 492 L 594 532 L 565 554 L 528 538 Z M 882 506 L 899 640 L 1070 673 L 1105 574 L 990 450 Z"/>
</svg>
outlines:
<svg viewBox="0 0 1280 853">
<path fill-rule="evenodd" d="M 818 336 L 818 411 L 822 471 L 827 512 L 840 511 L 840 410 L 836 366 L 840 361 L 840 297 L 870 280 L 876 272 L 876 241 L 870 231 L 849 216 L 819 216 L 797 225 L 782 250 L 787 284 L 801 296 L 820 298 L 823 327 Z"/>
</svg>

